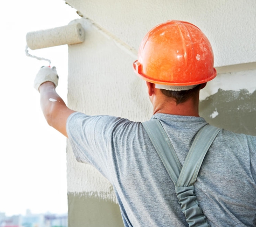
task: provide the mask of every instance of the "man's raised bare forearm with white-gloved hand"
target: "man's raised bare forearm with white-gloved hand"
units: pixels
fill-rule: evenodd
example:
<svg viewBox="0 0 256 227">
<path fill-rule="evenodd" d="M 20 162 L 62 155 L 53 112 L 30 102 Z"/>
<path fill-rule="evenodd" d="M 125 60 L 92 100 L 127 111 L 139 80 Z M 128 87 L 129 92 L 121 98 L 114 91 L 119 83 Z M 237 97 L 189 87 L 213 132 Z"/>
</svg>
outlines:
<svg viewBox="0 0 256 227">
<path fill-rule="evenodd" d="M 55 88 L 58 85 L 56 68 L 42 67 L 34 80 L 34 88 L 40 93 L 41 109 L 47 123 L 67 137 L 66 122 L 75 112 L 67 108 Z"/>
</svg>

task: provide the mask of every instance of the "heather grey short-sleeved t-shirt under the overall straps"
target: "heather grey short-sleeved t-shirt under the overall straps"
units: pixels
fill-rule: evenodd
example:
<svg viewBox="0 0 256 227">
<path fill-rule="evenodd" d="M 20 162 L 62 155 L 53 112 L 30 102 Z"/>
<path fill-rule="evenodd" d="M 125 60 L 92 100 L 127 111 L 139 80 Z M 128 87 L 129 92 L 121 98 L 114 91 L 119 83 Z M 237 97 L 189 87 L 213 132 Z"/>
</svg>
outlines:
<svg viewBox="0 0 256 227">
<path fill-rule="evenodd" d="M 157 113 L 183 165 L 200 117 Z M 75 157 L 97 168 L 113 184 L 125 226 L 188 226 L 165 170 L 140 122 L 72 113 L 67 133 Z M 256 137 L 221 130 L 195 183 L 195 194 L 211 226 L 254 226 Z M 256 226 L 256 225 L 255 225 Z"/>
</svg>

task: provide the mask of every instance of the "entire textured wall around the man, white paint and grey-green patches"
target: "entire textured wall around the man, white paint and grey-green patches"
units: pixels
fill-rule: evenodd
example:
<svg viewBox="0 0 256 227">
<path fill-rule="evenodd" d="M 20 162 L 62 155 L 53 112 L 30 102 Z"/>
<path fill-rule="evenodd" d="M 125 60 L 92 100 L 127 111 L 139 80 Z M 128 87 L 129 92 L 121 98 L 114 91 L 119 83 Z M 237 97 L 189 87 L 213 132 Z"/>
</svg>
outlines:
<svg viewBox="0 0 256 227">
<path fill-rule="evenodd" d="M 256 134 L 255 1 L 66 2 L 84 17 L 78 21 L 86 30 L 85 42 L 68 48 L 70 108 L 88 115 L 149 119 L 146 85 L 132 69 L 137 48 L 156 24 L 188 20 L 210 39 L 219 72 L 202 90 L 200 115 L 213 125 Z M 78 163 L 69 145 L 67 177 L 70 226 L 122 226 L 112 186 L 93 167 Z"/>
</svg>

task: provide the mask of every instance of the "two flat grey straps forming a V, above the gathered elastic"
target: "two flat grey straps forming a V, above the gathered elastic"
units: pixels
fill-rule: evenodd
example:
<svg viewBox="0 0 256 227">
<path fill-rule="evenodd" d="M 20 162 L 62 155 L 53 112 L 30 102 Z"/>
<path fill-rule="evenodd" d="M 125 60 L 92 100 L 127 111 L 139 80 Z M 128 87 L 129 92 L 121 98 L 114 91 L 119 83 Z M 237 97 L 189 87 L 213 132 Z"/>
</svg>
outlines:
<svg viewBox="0 0 256 227">
<path fill-rule="evenodd" d="M 198 131 L 182 167 L 160 120 L 153 118 L 143 122 L 142 125 L 175 186 L 193 185 L 204 157 L 220 129 L 209 124 L 202 127 Z"/>
</svg>

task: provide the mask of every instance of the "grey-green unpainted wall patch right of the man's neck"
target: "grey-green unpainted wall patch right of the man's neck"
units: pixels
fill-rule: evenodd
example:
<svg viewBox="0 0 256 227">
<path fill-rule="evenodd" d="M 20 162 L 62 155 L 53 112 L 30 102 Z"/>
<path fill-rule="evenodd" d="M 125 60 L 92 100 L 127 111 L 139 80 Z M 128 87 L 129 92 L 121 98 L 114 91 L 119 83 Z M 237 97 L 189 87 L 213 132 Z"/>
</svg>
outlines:
<svg viewBox="0 0 256 227">
<path fill-rule="evenodd" d="M 200 101 L 200 116 L 209 124 L 224 129 L 256 136 L 256 91 L 219 89 L 214 95 Z M 217 116 L 212 113 L 217 111 Z M 211 117 L 212 116 L 212 117 Z"/>
</svg>

